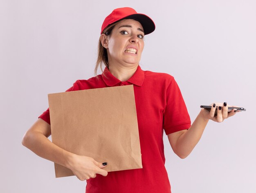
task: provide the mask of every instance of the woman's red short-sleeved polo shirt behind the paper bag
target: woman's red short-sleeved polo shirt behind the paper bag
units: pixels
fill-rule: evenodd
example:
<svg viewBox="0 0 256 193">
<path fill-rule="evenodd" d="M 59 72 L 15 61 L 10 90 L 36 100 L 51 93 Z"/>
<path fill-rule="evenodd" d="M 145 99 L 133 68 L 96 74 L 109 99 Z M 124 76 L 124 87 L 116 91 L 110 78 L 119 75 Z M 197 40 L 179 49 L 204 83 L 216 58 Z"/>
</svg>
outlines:
<svg viewBox="0 0 256 193">
<path fill-rule="evenodd" d="M 106 177 L 97 174 L 87 180 L 86 193 L 171 193 L 164 166 L 163 133 L 168 135 L 191 126 L 175 79 L 166 73 L 143 71 L 140 66 L 124 82 L 115 78 L 107 67 L 103 73 L 108 79 L 98 75 L 99 80 L 95 77 L 78 80 L 67 91 L 133 84 L 143 168 L 109 172 Z M 40 118 L 50 123 L 49 109 Z"/>
</svg>

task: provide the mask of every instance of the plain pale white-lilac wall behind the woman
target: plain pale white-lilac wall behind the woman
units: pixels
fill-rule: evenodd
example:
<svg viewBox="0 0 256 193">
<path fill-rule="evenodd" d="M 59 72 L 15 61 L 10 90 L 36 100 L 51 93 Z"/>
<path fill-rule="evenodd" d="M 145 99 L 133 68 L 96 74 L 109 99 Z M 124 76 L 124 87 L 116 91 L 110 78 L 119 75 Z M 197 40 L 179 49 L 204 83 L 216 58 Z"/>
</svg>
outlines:
<svg viewBox="0 0 256 193">
<path fill-rule="evenodd" d="M 209 121 L 191 155 L 180 159 L 164 134 L 173 193 L 256 192 L 256 2 L 254 0 L 1 0 L 0 192 L 84 192 L 76 177 L 55 178 L 54 164 L 21 145 L 47 109 L 47 94 L 89 79 L 105 17 L 117 7 L 150 16 L 142 70 L 175 77 L 191 121 L 200 105 L 247 109 Z M 99 74 L 101 72 L 99 71 Z"/>
</svg>

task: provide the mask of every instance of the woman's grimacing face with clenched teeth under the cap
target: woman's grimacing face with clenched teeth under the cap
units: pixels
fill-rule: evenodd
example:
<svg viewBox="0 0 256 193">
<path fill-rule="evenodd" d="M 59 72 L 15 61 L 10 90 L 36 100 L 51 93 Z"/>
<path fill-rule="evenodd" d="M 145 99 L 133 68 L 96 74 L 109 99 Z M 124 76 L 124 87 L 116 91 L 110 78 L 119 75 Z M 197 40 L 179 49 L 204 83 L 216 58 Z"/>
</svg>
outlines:
<svg viewBox="0 0 256 193">
<path fill-rule="evenodd" d="M 102 34 L 102 36 L 106 36 Z M 132 19 L 121 20 L 105 39 L 103 46 L 108 52 L 108 62 L 125 66 L 138 65 L 144 48 L 144 31 L 140 22 Z"/>
</svg>

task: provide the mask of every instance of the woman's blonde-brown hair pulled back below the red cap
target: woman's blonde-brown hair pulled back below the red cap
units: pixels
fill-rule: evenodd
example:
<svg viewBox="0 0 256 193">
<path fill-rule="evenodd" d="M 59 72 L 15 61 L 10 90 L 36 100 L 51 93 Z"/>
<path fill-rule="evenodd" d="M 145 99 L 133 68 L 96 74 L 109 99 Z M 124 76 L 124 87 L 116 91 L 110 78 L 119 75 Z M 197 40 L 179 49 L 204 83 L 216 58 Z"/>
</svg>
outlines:
<svg viewBox="0 0 256 193">
<path fill-rule="evenodd" d="M 111 25 L 109 25 L 108 27 L 106 27 L 102 34 L 105 34 L 106 36 L 109 36 L 111 34 L 112 29 L 115 27 L 115 25 L 117 25 L 117 22 L 112 23 Z M 101 68 L 101 72 L 104 76 L 106 76 L 103 73 L 103 69 L 102 69 L 102 65 L 105 65 L 106 67 L 108 67 L 108 53 L 107 53 L 107 49 L 105 47 L 103 47 L 103 45 L 101 44 L 101 38 L 99 38 L 99 43 L 98 43 L 98 57 L 97 57 L 97 62 L 94 68 L 94 76 L 96 76 L 97 79 L 99 79 L 99 77 L 97 76 L 97 71 L 98 68 Z"/>
</svg>

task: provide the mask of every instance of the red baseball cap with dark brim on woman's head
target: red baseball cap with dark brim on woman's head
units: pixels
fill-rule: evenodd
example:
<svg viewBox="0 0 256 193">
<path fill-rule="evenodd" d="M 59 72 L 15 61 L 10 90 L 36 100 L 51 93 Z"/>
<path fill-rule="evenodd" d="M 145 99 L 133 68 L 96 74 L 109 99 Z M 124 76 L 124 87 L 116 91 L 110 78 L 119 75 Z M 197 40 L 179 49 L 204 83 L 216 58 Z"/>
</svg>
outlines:
<svg viewBox="0 0 256 193">
<path fill-rule="evenodd" d="M 134 9 L 130 7 L 122 7 L 122 8 L 117 8 L 112 11 L 104 20 L 102 26 L 101 26 L 101 34 L 103 30 L 108 27 L 108 25 L 117 22 L 122 19 L 133 19 L 137 20 L 138 22 L 141 23 L 144 33 L 150 34 L 155 30 L 155 23 L 153 20 L 146 16 L 145 14 L 142 13 L 137 13 Z"/>
</svg>

